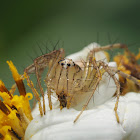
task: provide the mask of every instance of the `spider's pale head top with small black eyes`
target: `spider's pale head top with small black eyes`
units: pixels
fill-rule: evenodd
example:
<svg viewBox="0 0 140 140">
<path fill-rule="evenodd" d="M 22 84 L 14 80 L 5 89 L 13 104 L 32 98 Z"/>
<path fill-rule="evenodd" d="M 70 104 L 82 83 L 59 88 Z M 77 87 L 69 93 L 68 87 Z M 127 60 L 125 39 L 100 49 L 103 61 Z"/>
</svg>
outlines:
<svg viewBox="0 0 140 140">
<path fill-rule="evenodd" d="M 72 61 L 72 59 L 63 59 L 63 60 L 60 60 L 59 62 L 59 65 L 61 65 L 63 68 L 69 68 L 69 67 L 72 67 L 72 66 L 75 66 L 75 63 Z"/>
</svg>

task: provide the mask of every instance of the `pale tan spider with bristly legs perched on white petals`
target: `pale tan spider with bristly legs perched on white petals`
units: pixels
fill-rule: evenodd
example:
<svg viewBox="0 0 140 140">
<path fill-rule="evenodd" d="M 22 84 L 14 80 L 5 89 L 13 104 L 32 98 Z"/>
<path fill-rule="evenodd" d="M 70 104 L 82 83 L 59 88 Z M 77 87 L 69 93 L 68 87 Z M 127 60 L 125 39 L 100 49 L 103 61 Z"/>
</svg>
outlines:
<svg viewBox="0 0 140 140">
<path fill-rule="evenodd" d="M 102 75 L 107 72 L 114 80 L 116 89 L 116 103 L 114 107 L 116 120 L 119 123 L 119 116 L 117 113 L 119 96 L 120 96 L 120 84 L 117 78 L 114 76 L 116 73 L 121 74 L 123 77 L 131 79 L 138 86 L 140 86 L 139 81 L 127 75 L 115 68 L 109 67 L 107 63 L 104 61 L 96 61 L 95 53 L 99 51 L 115 49 L 115 48 L 123 48 L 127 51 L 130 56 L 131 52 L 127 49 L 124 44 L 112 44 L 104 47 L 97 47 L 89 51 L 86 61 L 81 61 L 84 67 L 80 67 L 80 65 L 76 64 L 72 59 L 65 58 L 65 53 L 63 49 L 54 50 L 48 54 L 42 55 L 34 59 L 34 63 L 28 66 L 24 72 L 25 77 L 27 79 L 28 85 L 31 87 L 32 92 L 34 93 L 36 99 L 38 100 L 39 110 L 41 116 L 45 114 L 45 99 L 44 99 L 44 91 L 41 86 L 41 74 L 46 67 L 48 67 L 48 72 L 45 77 L 45 83 L 47 86 L 48 93 L 48 102 L 49 108 L 52 110 L 52 101 L 51 95 L 53 91 L 56 93 L 56 96 L 60 102 L 60 109 L 67 107 L 74 107 L 79 104 L 87 97 L 86 103 L 83 105 L 81 112 L 74 120 L 74 123 L 81 116 L 83 111 L 87 108 L 90 100 L 92 99 L 94 92 L 102 80 Z M 41 101 L 39 98 L 39 94 L 37 90 L 34 88 L 32 81 L 29 78 L 29 74 L 35 73 L 37 77 L 37 82 L 39 85 L 40 92 L 43 97 L 43 108 L 41 106 Z M 90 94 L 87 94 L 90 93 Z"/>
</svg>

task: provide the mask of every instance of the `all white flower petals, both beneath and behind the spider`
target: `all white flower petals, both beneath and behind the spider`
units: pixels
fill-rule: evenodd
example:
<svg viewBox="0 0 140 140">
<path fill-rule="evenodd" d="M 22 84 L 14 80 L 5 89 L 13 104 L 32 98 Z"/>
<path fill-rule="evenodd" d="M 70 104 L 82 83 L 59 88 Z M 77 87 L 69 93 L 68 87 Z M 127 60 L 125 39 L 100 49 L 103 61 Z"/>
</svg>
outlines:
<svg viewBox="0 0 140 140">
<path fill-rule="evenodd" d="M 92 43 L 82 51 L 68 56 L 74 61 L 85 60 L 85 56 L 97 44 Z M 103 52 L 98 53 L 96 59 L 104 59 Z M 111 66 L 115 65 L 110 63 Z M 40 117 L 38 106 L 33 111 L 34 119 L 29 124 L 25 140 L 122 140 L 140 137 L 140 95 L 134 92 L 120 97 L 118 114 L 120 123 L 115 117 L 114 106 L 116 98 L 112 97 L 116 87 L 109 77 L 103 77 L 99 89 L 95 92 L 88 110 L 84 111 L 78 121 L 73 121 L 79 110 L 58 108 L 59 102 L 52 97 L 53 110 L 49 110 L 47 96 L 46 115 Z M 81 103 L 84 105 L 84 103 Z M 77 107 L 78 108 L 78 107 Z M 77 109 L 76 108 L 76 109 Z"/>
</svg>

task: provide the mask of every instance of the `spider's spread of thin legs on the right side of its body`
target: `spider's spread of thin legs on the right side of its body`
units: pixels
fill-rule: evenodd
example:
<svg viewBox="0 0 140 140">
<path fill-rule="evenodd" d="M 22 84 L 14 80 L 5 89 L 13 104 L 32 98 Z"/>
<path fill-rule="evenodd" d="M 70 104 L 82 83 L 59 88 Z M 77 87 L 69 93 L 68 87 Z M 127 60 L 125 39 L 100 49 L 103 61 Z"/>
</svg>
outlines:
<svg viewBox="0 0 140 140">
<path fill-rule="evenodd" d="M 120 70 L 117 70 L 117 68 L 112 68 L 112 67 L 109 67 L 105 62 L 103 61 L 98 61 L 96 62 L 95 58 L 94 58 L 94 54 L 95 52 L 98 52 L 98 51 L 103 51 L 103 50 L 109 50 L 109 49 L 115 49 L 115 48 L 123 48 L 128 54 L 130 57 L 133 58 L 133 54 L 128 50 L 127 46 L 124 45 L 124 44 L 113 44 L 113 45 L 108 45 L 108 46 L 104 46 L 104 47 L 101 47 L 101 48 L 94 48 L 93 50 L 90 51 L 90 53 L 88 54 L 88 56 L 90 57 L 87 57 L 87 62 L 90 64 L 92 61 L 92 64 L 93 64 L 93 69 L 96 71 L 96 74 L 94 77 L 89 77 L 89 79 L 93 79 L 92 81 L 96 81 L 94 82 L 94 85 L 93 88 L 92 88 L 92 93 L 91 95 L 89 96 L 86 104 L 83 106 L 81 112 L 79 113 L 79 115 L 76 117 L 76 119 L 74 120 L 74 122 L 76 122 L 79 117 L 81 116 L 81 114 L 83 113 L 83 111 L 87 108 L 91 98 L 93 97 L 93 94 L 97 88 L 97 86 L 99 85 L 99 82 L 101 81 L 102 79 L 102 75 L 104 74 L 104 72 L 107 72 L 111 77 L 112 79 L 114 80 L 115 82 L 115 85 L 117 87 L 117 91 L 116 91 L 116 96 L 117 96 L 117 100 L 116 100 L 116 103 L 115 103 L 115 107 L 114 107 L 114 111 L 115 111 L 115 116 L 116 116 L 116 120 L 117 122 L 119 123 L 119 116 L 118 116 L 118 113 L 117 113 L 117 109 L 118 109 L 118 103 L 119 103 L 119 96 L 120 96 L 120 83 L 119 81 L 117 80 L 117 78 L 114 76 L 115 73 L 118 73 L 120 74 L 121 76 L 125 77 L 125 78 L 128 78 L 130 80 L 132 80 L 135 84 L 137 84 L 138 86 L 140 86 L 140 82 L 138 81 L 138 79 L 136 79 L 135 77 L 131 76 L 131 75 L 128 75 L 128 74 L 125 74 L 123 72 L 121 72 Z M 91 55 L 92 54 L 92 55 Z M 86 62 L 86 63 L 87 63 Z M 95 71 L 91 71 L 90 68 L 87 66 L 85 66 L 84 69 L 87 69 L 87 75 L 91 75 L 93 72 L 95 73 Z M 93 75 L 92 75 L 93 76 Z M 88 77 L 88 76 L 87 76 Z M 86 83 L 86 81 L 85 81 Z M 87 83 L 87 86 L 89 87 L 89 83 Z M 90 89 L 89 89 L 90 90 Z"/>
</svg>

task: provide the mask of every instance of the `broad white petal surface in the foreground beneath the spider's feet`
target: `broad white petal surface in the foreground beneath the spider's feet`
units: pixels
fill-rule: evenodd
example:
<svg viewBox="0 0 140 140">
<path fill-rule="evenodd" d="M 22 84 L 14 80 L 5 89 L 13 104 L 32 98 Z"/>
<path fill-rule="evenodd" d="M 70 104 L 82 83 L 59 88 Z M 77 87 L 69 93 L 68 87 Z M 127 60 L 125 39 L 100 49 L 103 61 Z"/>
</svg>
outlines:
<svg viewBox="0 0 140 140">
<path fill-rule="evenodd" d="M 120 97 L 117 123 L 114 113 L 115 101 L 84 111 L 77 123 L 73 123 L 79 111 L 54 109 L 46 116 L 36 117 L 26 130 L 28 140 L 138 140 L 140 137 L 140 95 L 128 93 Z"/>
</svg>

